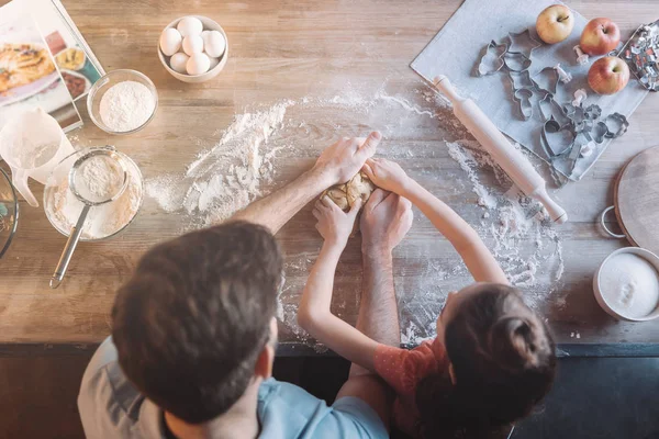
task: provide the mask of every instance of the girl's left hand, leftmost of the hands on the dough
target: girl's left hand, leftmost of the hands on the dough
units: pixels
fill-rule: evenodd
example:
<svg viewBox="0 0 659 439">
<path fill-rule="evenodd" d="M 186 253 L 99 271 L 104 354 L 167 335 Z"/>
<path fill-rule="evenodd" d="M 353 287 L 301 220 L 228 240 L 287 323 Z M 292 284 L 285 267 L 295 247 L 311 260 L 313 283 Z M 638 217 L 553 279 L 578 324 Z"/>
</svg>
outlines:
<svg viewBox="0 0 659 439">
<path fill-rule="evenodd" d="M 348 213 L 342 211 L 327 195 L 316 201 L 312 213 L 319 221 L 316 229 L 326 244 L 346 246 L 360 207 L 361 199 L 355 201 Z"/>
</svg>

